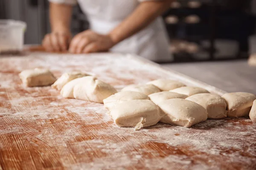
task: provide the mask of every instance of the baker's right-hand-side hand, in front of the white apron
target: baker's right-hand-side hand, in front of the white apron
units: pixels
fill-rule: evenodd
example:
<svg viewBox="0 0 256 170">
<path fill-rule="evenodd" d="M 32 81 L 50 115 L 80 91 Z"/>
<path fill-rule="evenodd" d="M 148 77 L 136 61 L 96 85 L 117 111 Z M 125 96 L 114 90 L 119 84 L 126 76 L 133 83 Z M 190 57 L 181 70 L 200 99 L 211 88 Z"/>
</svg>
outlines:
<svg viewBox="0 0 256 170">
<path fill-rule="evenodd" d="M 115 43 L 109 35 L 97 34 L 91 30 L 77 34 L 70 42 L 70 53 L 93 53 L 108 51 Z"/>
</svg>

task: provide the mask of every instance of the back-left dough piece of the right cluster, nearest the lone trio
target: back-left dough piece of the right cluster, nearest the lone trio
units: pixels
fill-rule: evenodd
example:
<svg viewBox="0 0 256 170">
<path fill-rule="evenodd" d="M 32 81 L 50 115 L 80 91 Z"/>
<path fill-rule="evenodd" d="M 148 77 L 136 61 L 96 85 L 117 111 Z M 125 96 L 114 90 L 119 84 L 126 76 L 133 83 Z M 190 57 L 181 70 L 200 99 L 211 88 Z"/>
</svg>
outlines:
<svg viewBox="0 0 256 170">
<path fill-rule="evenodd" d="M 143 93 L 145 95 L 153 94 L 160 92 L 160 89 L 157 88 L 155 85 L 128 85 L 127 87 L 123 88 L 121 91 L 137 91 Z"/>
</svg>

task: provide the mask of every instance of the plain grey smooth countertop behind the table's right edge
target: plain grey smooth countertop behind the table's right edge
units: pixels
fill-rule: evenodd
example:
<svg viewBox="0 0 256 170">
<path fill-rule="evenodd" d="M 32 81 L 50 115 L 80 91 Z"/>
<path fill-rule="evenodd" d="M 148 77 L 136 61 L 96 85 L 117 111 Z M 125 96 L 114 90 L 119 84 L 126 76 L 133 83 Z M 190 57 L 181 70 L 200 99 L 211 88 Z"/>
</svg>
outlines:
<svg viewBox="0 0 256 170">
<path fill-rule="evenodd" d="M 227 92 L 256 94 L 256 67 L 246 59 L 237 61 L 164 64 L 164 68 L 186 74 Z"/>
</svg>

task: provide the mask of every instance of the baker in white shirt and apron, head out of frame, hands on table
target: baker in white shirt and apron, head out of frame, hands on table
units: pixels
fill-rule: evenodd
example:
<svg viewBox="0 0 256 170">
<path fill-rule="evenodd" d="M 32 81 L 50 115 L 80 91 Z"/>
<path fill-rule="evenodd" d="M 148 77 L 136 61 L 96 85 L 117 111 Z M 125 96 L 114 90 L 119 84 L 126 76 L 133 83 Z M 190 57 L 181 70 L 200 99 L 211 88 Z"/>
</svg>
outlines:
<svg viewBox="0 0 256 170">
<path fill-rule="evenodd" d="M 47 51 L 137 54 L 170 60 L 168 35 L 160 15 L 173 0 L 49 0 L 52 32 L 42 42 Z M 79 3 L 90 29 L 71 38 L 72 6 Z"/>
</svg>

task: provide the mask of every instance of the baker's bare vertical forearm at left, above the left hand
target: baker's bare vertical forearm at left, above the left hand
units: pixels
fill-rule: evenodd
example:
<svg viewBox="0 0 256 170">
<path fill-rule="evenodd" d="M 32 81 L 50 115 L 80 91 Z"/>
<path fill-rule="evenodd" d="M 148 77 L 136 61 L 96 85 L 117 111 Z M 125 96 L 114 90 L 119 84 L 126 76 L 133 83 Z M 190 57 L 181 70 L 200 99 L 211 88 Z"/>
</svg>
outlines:
<svg viewBox="0 0 256 170">
<path fill-rule="evenodd" d="M 49 14 L 52 32 L 70 31 L 72 9 L 71 5 L 50 3 Z"/>
</svg>

